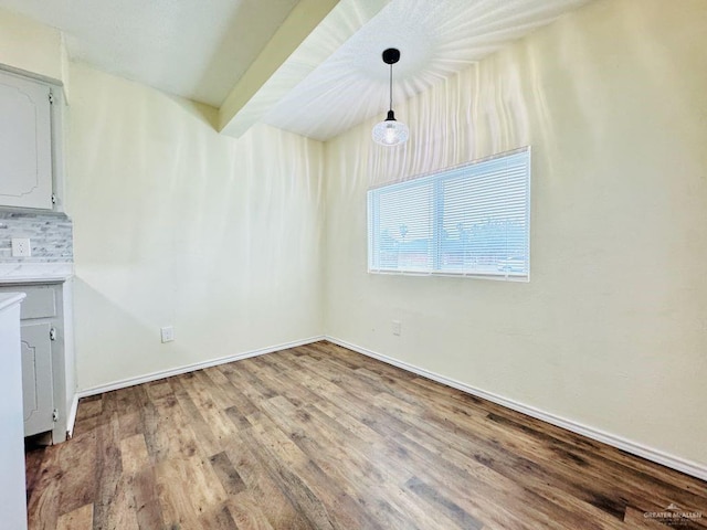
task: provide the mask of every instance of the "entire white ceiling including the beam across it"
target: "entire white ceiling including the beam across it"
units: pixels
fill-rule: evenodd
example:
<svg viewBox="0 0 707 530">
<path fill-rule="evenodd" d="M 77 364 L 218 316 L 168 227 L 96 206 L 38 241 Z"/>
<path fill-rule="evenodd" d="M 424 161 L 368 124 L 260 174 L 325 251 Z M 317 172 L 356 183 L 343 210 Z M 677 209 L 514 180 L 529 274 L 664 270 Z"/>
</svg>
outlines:
<svg viewBox="0 0 707 530">
<path fill-rule="evenodd" d="M 0 0 L 62 30 L 71 59 L 327 140 L 590 0 Z M 204 4 L 208 4 L 205 9 Z"/>
</svg>

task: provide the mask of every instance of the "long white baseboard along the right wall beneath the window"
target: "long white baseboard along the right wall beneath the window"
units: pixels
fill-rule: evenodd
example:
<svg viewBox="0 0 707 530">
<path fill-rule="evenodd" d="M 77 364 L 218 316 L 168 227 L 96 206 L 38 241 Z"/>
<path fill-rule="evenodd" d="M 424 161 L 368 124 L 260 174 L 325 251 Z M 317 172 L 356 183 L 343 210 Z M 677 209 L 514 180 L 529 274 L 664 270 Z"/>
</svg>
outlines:
<svg viewBox="0 0 707 530">
<path fill-rule="evenodd" d="M 425 370 L 423 368 L 415 367 L 414 364 L 410 364 L 408 362 L 399 361 L 391 357 L 377 353 L 372 350 L 369 350 L 367 348 L 361 348 L 360 346 L 352 344 L 345 340 L 339 340 L 334 337 L 326 337 L 326 340 L 328 340 L 329 342 L 334 342 L 335 344 L 341 346 L 344 348 L 347 348 L 349 350 L 354 350 L 358 353 L 362 353 L 367 357 L 372 357 L 373 359 L 378 359 L 379 361 L 383 361 L 388 364 L 392 364 L 394 367 L 401 368 L 409 372 L 416 373 L 419 375 L 422 375 L 423 378 L 431 379 L 432 381 L 436 381 L 447 386 L 452 386 L 453 389 L 461 390 L 462 392 L 466 392 L 468 394 L 475 395 L 477 398 L 482 398 L 484 400 L 499 404 L 507 409 L 520 412 L 523 414 L 527 414 L 528 416 L 535 417 L 537 420 L 541 420 L 552 425 L 557 425 L 558 427 L 566 428 L 567 431 L 581 434 L 582 436 L 587 436 L 588 438 L 602 442 L 606 445 L 611 445 L 612 447 L 616 447 L 619 449 L 625 451 L 626 453 L 641 456 L 642 458 L 645 458 L 647 460 L 652 460 L 663 466 L 669 467 L 672 469 L 676 469 L 687 475 L 692 475 L 693 477 L 697 477 L 701 480 L 707 480 L 707 466 L 703 464 L 690 462 L 685 458 L 680 458 L 678 456 L 669 455 L 662 451 L 654 449 L 652 447 L 623 438 L 621 436 L 616 436 L 614 434 L 605 433 L 594 427 L 582 425 L 572 420 L 567 420 L 564 417 L 556 416 L 555 414 L 550 414 L 548 412 L 541 411 L 534 406 L 525 405 L 523 403 L 518 403 L 517 401 L 509 400 L 502 395 L 494 394 L 492 392 L 486 392 L 485 390 L 476 389 L 474 386 L 462 383 L 460 381 L 455 381 L 453 379 L 445 378 L 444 375 L 430 372 L 429 370 Z"/>
</svg>

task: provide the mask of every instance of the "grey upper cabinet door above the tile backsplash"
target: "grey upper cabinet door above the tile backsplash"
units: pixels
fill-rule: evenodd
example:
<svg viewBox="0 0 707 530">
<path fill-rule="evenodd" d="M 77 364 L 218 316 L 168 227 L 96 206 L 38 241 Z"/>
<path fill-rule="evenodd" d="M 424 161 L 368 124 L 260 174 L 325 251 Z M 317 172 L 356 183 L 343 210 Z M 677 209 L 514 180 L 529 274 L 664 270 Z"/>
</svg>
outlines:
<svg viewBox="0 0 707 530">
<path fill-rule="evenodd" d="M 52 209 L 50 87 L 0 72 L 0 204 Z"/>
</svg>

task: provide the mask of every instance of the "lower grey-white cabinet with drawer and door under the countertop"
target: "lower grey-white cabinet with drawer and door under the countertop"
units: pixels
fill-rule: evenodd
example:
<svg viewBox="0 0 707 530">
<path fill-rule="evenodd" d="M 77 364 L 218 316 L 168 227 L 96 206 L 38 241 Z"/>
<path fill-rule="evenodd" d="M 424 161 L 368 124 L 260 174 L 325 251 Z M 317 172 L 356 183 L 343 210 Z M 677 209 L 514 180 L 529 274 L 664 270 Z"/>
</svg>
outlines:
<svg viewBox="0 0 707 530">
<path fill-rule="evenodd" d="M 70 284 L 0 286 L 0 293 L 27 295 L 20 314 L 24 436 L 45 433 L 54 444 L 66 439 L 76 388 Z"/>
</svg>

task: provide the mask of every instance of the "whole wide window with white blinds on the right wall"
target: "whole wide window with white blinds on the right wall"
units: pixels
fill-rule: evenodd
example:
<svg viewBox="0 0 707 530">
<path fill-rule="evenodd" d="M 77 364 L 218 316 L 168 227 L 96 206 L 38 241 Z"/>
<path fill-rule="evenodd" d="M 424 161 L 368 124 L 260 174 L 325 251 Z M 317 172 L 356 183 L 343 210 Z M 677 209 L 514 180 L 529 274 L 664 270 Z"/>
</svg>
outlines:
<svg viewBox="0 0 707 530">
<path fill-rule="evenodd" d="M 368 271 L 528 280 L 530 148 L 373 188 Z"/>
</svg>

